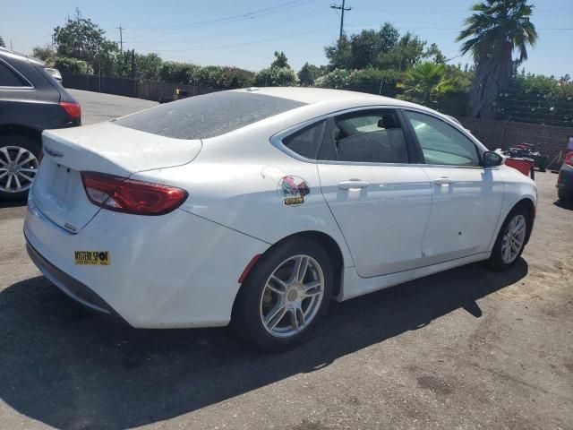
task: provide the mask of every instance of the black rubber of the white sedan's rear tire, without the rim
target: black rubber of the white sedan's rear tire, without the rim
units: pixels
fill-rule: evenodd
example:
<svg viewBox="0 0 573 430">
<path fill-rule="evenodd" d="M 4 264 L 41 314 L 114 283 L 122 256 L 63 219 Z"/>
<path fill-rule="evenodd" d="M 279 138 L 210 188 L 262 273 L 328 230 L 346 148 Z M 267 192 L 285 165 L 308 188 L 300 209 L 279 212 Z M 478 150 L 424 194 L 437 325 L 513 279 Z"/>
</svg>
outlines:
<svg viewBox="0 0 573 430">
<path fill-rule="evenodd" d="M 324 276 L 323 296 L 318 311 L 312 321 L 298 333 L 280 338 L 271 334 L 261 321 L 261 297 L 270 275 L 289 257 L 305 254 L 321 266 Z M 334 270 L 329 254 L 318 243 L 305 239 L 294 238 L 277 245 L 252 268 L 244 281 L 233 307 L 231 326 L 244 340 L 252 342 L 259 348 L 268 351 L 280 351 L 292 348 L 308 340 L 318 323 L 327 313 L 334 285 Z"/>
</svg>

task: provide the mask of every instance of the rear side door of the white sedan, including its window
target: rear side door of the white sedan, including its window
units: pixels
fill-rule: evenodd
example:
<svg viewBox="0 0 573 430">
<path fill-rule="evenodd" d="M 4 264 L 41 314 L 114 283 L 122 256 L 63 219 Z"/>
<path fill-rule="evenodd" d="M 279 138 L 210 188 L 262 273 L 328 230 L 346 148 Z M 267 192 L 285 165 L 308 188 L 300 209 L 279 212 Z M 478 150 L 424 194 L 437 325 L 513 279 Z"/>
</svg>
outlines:
<svg viewBox="0 0 573 430">
<path fill-rule="evenodd" d="M 363 278 L 422 261 L 432 190 L 396 109 L 329 118 L 317 166 L 321 191 Z"/>
</svg>

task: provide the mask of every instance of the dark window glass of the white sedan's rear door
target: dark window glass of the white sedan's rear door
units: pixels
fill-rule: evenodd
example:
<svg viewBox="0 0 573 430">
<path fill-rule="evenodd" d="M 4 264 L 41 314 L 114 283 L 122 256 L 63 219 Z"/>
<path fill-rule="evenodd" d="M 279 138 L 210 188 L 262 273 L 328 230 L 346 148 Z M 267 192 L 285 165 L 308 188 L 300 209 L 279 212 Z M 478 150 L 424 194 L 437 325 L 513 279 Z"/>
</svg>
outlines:
<svg viewBox="0 0 573 430">
<path fill-rule="evenodd" d="M 408 162 L 404 132 L 393 110 L 363 111 L 337 116 L 332 135 L 335 150 L 329 152 L 338 161 Z M 332 148 L 329 142 L 325 142 L 324 146 Z"/>
</svg>

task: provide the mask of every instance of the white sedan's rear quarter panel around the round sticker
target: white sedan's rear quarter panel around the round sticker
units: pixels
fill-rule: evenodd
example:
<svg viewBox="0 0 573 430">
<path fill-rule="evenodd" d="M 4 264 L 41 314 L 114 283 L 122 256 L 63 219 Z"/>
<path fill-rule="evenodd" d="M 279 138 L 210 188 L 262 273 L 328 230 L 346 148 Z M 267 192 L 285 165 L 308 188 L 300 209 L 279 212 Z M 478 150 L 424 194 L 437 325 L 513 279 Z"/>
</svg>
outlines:
<svg viewBox="0 0 573 430">
<path fill-rule="evenodd" d="M 132 177 L 184 188 L 189 198 L 182 210 L 271 245 L 299 232 L 325 233 L 338 243 L 345 267 L 354 266 L 344 237 L 322 196 L 316 164 L 293 159 L 269 142 L 272 133 L 290 125 L 248 126 L 206 139 L 199 156 L 191 163 Z M 309 185 L 310 193 L 303 204 L 285 203 L 280 182 L 286 176 L 295 176 Z"/>
</svg>

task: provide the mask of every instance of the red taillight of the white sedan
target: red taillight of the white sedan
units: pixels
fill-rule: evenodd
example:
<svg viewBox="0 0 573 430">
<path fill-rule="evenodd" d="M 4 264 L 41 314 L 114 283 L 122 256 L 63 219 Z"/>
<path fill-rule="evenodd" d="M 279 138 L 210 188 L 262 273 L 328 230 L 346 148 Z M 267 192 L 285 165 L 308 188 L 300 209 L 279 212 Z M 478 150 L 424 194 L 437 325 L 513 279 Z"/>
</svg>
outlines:
<svg viewBox="0 0 573 430">
<path fill-rule="evenodd" d="M 181 188 L 98 172 L 81 172 L 81 182 L 90 202 L 109 211 L 163 215 L 174 211 L 187 198 L 187 192 Z"/>
</svg>

